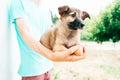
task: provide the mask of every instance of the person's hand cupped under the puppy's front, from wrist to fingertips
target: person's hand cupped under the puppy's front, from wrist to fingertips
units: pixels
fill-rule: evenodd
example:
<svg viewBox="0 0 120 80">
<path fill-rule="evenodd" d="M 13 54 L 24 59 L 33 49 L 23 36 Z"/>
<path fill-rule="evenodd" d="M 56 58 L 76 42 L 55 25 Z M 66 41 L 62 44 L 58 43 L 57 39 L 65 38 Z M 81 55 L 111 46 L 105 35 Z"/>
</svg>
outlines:
<svg viewBox="0 0 120 80">
<path fill-rule="evenodd" d="M 83 47 L 83 55 L 81 56 L 77 56 L 73 54 L 77 49 L 78 49 L 78 46 L 74 46 L 61 52 L 54 52 L 52 60 L 55 62 L 60 62 L 60 61 L 78 61 L 78 60 L 84 59 L 85 48 Z"/>
</svg>

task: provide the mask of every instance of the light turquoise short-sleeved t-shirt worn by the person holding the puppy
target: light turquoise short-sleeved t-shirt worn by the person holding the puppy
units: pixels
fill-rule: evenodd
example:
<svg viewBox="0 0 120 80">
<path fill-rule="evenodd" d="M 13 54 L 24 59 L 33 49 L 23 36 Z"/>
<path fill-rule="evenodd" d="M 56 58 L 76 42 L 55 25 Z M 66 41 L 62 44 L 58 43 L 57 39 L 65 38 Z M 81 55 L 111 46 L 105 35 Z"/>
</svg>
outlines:
<svg viewBox="0 0 120 80">
<path fill-rule="evenodd" d="M 12 0 L 9 11 L 10 22 L 15 26 L 20 47 L 21 61 L 18 73 L 21 76 L 36 76 L 49 71 L 53 67 L 52 62 L 32 50 L 23 41 L 16 25 L 17 18 L 25 18 L 33 38 L 39 41 L 41 35 L 51 25 L 51 16 L 46 5 L 38 6 L 32 0 Z"/>
</svg>

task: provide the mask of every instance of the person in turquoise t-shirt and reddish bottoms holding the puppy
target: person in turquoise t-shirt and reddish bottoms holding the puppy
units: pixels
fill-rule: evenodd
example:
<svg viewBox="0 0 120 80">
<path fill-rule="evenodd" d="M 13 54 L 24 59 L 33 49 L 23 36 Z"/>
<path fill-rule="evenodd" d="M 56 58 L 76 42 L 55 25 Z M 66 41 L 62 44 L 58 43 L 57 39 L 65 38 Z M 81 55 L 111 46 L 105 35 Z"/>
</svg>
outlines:
<svg viewBox="0 0 120 80">
<path fill-rule="evenodd" d="M 51 24 L 51 16 L 42 0 L 12 0 L 10 5 L 10 21 L 14 24 L 20 48 L 21 63 L 18 73 L 22 80 L 50 80 L 49 71 L 52 61 L 78 61 L 85 58 L 73 53 L 77 46 L 60 52 L 53 52 L 44 47 L 39 39 Z"/>
</svg>

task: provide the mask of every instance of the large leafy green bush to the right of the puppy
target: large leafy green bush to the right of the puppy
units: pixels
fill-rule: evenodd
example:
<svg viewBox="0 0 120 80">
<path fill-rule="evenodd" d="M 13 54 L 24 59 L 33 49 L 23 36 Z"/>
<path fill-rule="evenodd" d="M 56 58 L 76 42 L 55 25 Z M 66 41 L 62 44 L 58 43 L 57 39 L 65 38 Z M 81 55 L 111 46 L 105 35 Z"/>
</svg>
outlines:
<svg viewBox="0 0 120 80">
<path fill-rule="evenodd" d="M 87 34 L 86 34 L 87 33 Z M 89 33 L 89 35 L 88 35 Z M 82 39 L 103 41 L 120 40 L 120 0 L 110 4 L 100 15 L 93 17 L 86 25 L 86 32 L 82 33 Z"/>
</svg>

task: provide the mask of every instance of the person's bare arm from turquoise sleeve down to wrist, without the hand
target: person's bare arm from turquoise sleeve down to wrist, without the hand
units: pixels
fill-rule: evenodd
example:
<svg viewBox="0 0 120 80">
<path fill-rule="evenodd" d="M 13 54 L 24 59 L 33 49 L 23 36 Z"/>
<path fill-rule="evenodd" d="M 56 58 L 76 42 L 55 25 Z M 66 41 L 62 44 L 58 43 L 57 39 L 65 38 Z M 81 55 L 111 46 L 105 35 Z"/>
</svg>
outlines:
<svg viewBox="0 0 120 80">
<path fill-rule="evenodd" d="M 30 34 L 28 29 L 28 25 L 24 19 L 17 19 L 17 26 L 19 28 L 19 32 L 25 41 L 25 43 L 32 48 L 37 53 L 47 57 L 52 60 L 52 51 L 44 47 L 39 41 L 36 41 Z"/>
</svg>

